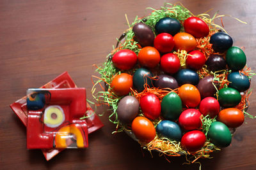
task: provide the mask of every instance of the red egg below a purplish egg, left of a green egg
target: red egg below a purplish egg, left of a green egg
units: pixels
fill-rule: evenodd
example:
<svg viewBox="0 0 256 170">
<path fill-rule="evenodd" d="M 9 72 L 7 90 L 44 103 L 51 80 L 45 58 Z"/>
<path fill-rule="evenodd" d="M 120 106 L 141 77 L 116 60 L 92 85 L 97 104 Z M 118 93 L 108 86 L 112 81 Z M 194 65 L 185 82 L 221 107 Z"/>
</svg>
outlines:
<svg viewBox="0 0 256 170">
<path fill-rule="evenodd" d="M 220 103 L 214 97 L 206 97 L 199 104 L 199 111 L 204 115 L 214 118 L 220 112 Z"/>
</svg>

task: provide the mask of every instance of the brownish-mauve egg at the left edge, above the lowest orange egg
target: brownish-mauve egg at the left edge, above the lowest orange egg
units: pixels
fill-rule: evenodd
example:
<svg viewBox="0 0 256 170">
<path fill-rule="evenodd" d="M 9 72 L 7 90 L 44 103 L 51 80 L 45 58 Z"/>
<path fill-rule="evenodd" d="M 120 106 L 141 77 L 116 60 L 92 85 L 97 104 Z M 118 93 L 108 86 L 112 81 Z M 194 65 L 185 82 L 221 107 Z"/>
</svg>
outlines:
<svg viewBox="0 0 256 170">
<path fill-rule="evenodd" d="M 118 120 L 125 124 L 132 122 L 134 118 L 137 117 L 139 113 L 140 103 L 133 96 L 125 96 L 120 100 L 117 106 L 117 117 Z"/>
</svg>

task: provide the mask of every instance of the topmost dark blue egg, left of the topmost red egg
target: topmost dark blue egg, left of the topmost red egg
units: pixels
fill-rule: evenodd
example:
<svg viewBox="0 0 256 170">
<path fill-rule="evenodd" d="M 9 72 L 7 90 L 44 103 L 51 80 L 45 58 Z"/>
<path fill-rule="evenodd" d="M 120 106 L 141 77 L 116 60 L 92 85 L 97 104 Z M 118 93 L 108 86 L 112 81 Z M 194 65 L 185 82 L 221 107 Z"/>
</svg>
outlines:
<svg viewBox="0 0 256 170">
<path fill-rule="evenodd" d="M 180 22 L 175 18 L 169 18 L 169 17 L 161 18 L 161 20 L 159 20 L 156 23 L 155 28 L 156 28 L 157 34 L 167 32 L 172 36 L 174 36 L 180 31 Z"/>
</svg>

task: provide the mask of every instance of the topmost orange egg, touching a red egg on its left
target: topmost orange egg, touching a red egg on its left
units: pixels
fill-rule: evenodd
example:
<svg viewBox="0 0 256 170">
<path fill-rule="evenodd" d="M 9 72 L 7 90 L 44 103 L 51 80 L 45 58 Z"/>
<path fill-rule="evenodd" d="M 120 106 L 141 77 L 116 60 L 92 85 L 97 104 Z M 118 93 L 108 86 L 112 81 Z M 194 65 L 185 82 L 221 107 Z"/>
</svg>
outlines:
<svg viewBox="0 0 256 170">
<path fill-rule="evenodd" d="M 174 37 L 175 50 L 190 52 L 196 48 L 196 39 L 186 32 L 179 32 Z"/>
</svg>

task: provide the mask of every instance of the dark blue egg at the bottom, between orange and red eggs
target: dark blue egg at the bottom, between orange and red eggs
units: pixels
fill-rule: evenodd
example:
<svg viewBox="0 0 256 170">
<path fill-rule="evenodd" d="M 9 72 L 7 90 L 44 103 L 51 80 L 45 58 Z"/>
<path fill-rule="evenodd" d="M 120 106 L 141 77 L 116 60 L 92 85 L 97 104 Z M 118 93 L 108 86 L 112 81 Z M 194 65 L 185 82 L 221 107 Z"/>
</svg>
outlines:
<svg viewBox="0 0 256 170">
<path fill-rule="evenodd" d="M 182 133 L 179 125 L 170 120 L 161 121 L 157 125 L 156 131 L 160 137 L 165 137 L 170 140 L 180 141 L 182 137 Z"/>
</svg>

